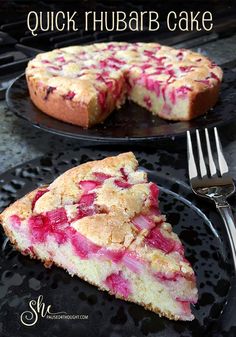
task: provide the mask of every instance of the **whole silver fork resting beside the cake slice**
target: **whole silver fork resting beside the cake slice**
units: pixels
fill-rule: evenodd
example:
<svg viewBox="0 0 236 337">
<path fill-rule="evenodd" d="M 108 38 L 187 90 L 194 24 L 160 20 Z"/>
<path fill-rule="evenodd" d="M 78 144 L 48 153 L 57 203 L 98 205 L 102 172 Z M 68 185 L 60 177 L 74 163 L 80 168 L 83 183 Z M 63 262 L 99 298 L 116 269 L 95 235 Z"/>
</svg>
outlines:
<svg viewBox="0 0 236 337">
<path fill-rule="evenodd" d="M 213 159 L 208 130 L 205 129 L 206 146 L 208 153 L 208 170 L 202 152 L 201 138 L 199 131 L 196 130 L 197 149 L 198 149 L 198 169 L 194 158 L 192 140 L 190 132 L 187 131 L 187 149 L 188 149 L 188 171 L 192 190 L 200 197 L 205 197 L 215 202 L 224 221 L 230 247 L 232 251 L 234 273 L 236 273 L 236 224 L 233 213 L 227 198 L 235 192 L 235 185 L 229 175 L 228 165 L 223 155 L 218 131 L 214 128 L 215 142 L 217 149 L 217 159 L 219 172 Z"/>
</svg>

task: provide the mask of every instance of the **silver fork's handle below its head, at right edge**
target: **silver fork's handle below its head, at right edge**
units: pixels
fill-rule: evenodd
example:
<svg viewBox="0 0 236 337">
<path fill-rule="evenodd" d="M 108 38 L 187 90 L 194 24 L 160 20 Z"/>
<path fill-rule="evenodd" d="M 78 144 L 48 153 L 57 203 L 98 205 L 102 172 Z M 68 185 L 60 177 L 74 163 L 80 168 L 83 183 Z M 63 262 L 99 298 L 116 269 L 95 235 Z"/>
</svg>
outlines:
<svg viewBox="0 0 236 337">
<path fill-rule="evenodd" d="M 228 234 L 230 248 L 234 263 L 234 273 L 236 275 L 236 224 L 230 204 L 224 198 L 214 198 L 216 208 L 218 209 Z"/>
</svg>

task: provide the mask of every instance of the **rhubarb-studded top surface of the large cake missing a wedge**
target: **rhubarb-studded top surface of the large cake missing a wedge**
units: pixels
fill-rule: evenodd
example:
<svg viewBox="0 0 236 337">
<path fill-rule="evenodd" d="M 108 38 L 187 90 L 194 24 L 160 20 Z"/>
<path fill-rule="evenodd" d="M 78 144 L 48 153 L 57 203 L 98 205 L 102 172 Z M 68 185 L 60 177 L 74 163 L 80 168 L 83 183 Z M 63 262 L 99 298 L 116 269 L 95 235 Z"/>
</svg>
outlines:
<svg viewBox="0 0 236 337">
<path fill-rule="evenodd" d="M 205 90 L 222 79 L 220 67 L 201 54 L 158 43 L 126 42 L 41 53 L 29 62 L 26 74 L 51 91 L 56 88 L 66 99 L 81 100 L 83 95 L 85 101 L 124 74 L 132 82 L 144 81 L 147 88 L 155 82 L 177 88 L 178 95 Z"/>
</svg>

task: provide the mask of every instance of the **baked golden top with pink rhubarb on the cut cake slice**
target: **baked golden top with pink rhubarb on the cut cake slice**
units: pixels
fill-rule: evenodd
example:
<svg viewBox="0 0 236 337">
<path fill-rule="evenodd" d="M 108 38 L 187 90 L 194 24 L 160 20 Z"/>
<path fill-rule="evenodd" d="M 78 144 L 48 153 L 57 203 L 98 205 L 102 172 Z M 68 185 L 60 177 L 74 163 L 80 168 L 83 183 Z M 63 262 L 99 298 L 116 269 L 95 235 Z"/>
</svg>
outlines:
<svg viewBox="0 0 236 337">
<path fill-rule="evenodd" d="M 137 167 L 131 152 L 82 164 L 15 202 L 0 220 L 22 233 L 29 226 L 32 242 L 43 243 L 48 236 L 58 244 L 68 236 L 79 240 L 82 258 L 125 256 L 134 268 L 144 261 L 159 277 L 194 280 L 178 236 L 160 214 L 157 185 Z"/>
</svg>

